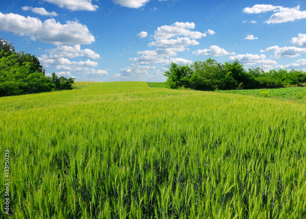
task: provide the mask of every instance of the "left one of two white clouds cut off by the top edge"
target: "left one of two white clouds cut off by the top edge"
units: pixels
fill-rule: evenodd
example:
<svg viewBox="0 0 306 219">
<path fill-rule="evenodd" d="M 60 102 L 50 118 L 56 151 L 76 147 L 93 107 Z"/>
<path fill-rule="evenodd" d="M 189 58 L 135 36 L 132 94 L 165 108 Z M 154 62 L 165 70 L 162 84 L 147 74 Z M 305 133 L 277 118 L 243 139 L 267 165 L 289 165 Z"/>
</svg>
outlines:
<svg viewBox="0 0 306 219">
<path fill-rule="evenodd" d="M 71 11 L 95 11 L 98 5 L 93 5 L 92 0 L 42 0 L 54 5 L 58 5 L 60 8 L 66 8 Z M 121 1 L 121 0 L 120 0 Z"/>
</svg>

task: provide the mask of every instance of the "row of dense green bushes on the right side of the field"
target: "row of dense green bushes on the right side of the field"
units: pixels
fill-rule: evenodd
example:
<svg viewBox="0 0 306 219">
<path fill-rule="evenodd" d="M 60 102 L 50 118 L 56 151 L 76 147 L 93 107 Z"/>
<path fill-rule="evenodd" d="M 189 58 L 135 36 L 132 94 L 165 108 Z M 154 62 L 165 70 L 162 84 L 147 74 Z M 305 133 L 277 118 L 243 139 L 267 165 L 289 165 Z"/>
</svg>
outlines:
<svg viewBox="0 0 306 219">
<path fill-rule="evenodd" d="M 249 69 L 245 71 L 238 60 L 233 63 L 217 63 L 209 58 L 206 61 L 196 61 L 192 65 L 172 63 L 164 75 L 168 87 L 179 87 L 198 90 L 232 90 L 254 88 L 278 88 L 306 82 L 303 71 Z"/>
</svg>

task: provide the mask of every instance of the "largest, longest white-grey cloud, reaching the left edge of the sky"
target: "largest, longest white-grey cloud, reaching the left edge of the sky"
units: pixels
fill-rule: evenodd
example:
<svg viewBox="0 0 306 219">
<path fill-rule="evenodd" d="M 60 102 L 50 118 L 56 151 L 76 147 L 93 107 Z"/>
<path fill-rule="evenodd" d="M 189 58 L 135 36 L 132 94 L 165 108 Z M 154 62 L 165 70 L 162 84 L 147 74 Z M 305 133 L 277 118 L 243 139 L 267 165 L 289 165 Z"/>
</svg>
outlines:
<svg viewBox="0 0 306 219">
<path fill-rule="evenodd" d="M 13 13 L 0 12 L 0 31 L 11 32 L 17 36 L 27 35 L 31 40 L 40 40 L 57 46 L 91 44 L 95 41 L 87 26 L 77 20 L 61 24 L 52 18 L 41 22 L 38 18 Z"/>
</svg>

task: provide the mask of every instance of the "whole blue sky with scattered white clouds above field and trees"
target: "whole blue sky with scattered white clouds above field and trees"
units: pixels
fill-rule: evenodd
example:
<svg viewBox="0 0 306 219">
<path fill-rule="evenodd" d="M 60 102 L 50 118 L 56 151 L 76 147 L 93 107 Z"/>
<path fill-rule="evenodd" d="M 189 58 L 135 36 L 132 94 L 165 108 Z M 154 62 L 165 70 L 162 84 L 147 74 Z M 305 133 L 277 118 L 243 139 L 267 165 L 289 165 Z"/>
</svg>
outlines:
<svg viewBox="0 0 306 219">
<path fill-rule="evenodd" d="M 0 38 L 50 75 L 76 81 L 164 82 L 171 62 L 211 57 L 244 68 L 306 70 L 306 2 L 11 0 Z"/>
</svg>

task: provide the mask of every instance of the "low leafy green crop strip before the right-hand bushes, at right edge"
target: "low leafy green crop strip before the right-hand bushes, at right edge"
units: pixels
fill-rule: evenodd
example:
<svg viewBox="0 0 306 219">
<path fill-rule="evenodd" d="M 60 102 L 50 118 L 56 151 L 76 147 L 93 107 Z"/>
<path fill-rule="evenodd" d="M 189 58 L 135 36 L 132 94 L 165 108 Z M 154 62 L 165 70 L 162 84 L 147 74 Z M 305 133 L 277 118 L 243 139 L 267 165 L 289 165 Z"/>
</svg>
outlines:
<svg viewBox="0 0 306 219">
<path fill-rule="evenodd" d="M 220 93 L 238 93 L 260 97 L 283 97 L 293 100 L 306 100 L 306 87 L 290 87 L 278 89 L 253 89 L 253 90 L 220 90 Z"/>
</svg>

